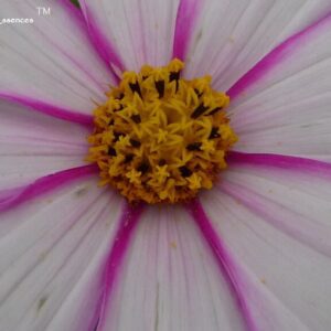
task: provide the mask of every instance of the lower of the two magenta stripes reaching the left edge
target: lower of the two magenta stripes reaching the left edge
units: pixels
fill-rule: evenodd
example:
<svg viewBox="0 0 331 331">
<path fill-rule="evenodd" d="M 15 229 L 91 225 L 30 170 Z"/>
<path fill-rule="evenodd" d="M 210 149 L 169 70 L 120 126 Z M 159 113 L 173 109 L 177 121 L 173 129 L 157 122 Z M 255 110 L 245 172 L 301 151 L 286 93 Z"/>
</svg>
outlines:
<svg viewBox="0 0 331 331">
<path fill-rule="evenodd" d="M 97 166 L 88 164 L 42 177 L 25 186 L 0 191 L 0 211 L 2 212 L 15 207 L 28 200 L 50 192 L 65 183 L 95 173 L 98 173 Z"/>
</svg>

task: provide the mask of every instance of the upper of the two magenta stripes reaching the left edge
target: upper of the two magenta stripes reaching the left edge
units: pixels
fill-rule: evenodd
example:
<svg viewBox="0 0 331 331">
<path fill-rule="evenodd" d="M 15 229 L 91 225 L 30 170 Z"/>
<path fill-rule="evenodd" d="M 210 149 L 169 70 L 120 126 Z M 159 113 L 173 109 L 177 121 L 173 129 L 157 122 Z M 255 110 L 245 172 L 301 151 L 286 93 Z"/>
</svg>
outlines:
<svg viewBox="0 0 331 331">
<path fill-rule="evenodd" d="M 61 108 L 30 97 L 0 93 L 0 99 L 21 104 L 32 108 L 33 110 L 71 122 L 76 122 L 88 127 L 93 126 L 92 115 L 79 114 L 78 111 Z"/>
</svg>

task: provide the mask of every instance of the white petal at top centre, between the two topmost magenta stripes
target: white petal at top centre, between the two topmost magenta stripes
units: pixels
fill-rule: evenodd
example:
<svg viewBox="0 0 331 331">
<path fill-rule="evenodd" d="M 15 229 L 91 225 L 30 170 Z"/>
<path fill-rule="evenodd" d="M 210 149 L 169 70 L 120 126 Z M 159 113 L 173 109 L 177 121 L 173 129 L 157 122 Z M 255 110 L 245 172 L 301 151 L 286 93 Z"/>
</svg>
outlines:
<svg viewBox="0 0 331 331">
<path fill-rule="evenodd" d="M 138 71 L 141 65 L 164 65 L 172 56 L 179 0 L 81 0 L 95 41 L 118 70 Z M 115 61 L 118 53 L 122 61 Z"/>
</svg>

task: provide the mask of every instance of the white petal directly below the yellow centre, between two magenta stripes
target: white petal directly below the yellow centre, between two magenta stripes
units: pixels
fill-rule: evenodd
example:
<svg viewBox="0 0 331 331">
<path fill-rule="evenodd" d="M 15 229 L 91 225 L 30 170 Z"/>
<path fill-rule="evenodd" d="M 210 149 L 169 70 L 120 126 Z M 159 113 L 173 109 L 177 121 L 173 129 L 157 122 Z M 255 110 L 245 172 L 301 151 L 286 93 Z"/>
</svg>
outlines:
<svg viewBox="0 0 331 331">
<path fill-rule="evenodd" d="M 236 302 L 189 214 L 142 215 L 99 330 L 244 330 Z"/>
</svg>

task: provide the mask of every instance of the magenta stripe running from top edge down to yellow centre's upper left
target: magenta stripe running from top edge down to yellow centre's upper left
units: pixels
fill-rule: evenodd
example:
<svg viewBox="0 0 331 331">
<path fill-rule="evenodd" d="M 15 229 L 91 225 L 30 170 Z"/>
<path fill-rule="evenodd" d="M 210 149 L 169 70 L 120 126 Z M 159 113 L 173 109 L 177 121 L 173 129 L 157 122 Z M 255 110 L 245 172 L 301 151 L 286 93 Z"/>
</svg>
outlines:
<svg viewBox="0 0 331 331">
<path fill-rule="evenodd" d="M 100 57 L 104 60 L 107 66 L 110 67 L 114 78 L 118 82 L 119 77 L 117 75 L 117 72 L 114 71 L 114 66 L 117 70 L 124 72 L 125 67 L 122 61 L 120 60 L 120 56 L 117 54 L 110 41 L 100 31 L 100 28 L 96 22 L 96 19 L 94 18 L 93 13 L 88 8 L 88 4 L 86 4 L 86 1 L 85 0 L 81 1 L 81 6 L 85 15 L 85 20 L 87 24 L 86 29 L 88 30 L 90 40 L 96 51 L 99 53 Z"/>
</svg>

